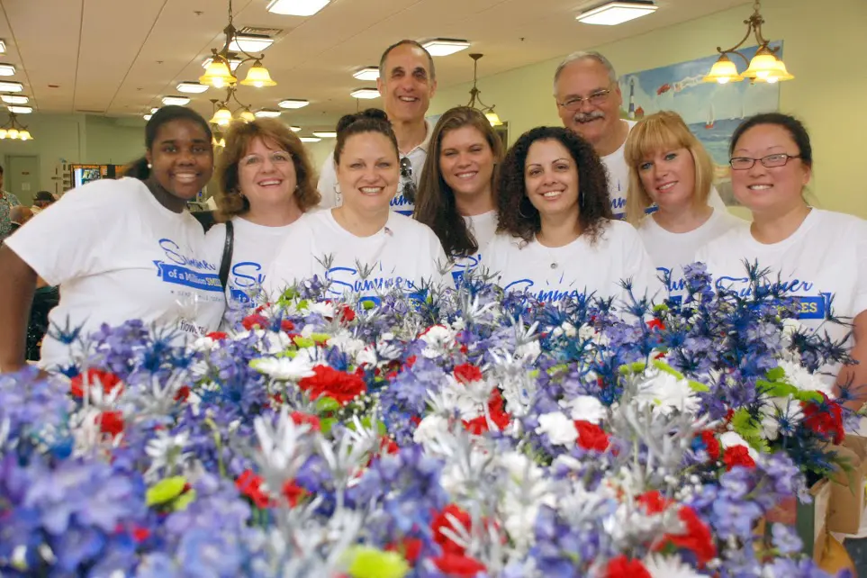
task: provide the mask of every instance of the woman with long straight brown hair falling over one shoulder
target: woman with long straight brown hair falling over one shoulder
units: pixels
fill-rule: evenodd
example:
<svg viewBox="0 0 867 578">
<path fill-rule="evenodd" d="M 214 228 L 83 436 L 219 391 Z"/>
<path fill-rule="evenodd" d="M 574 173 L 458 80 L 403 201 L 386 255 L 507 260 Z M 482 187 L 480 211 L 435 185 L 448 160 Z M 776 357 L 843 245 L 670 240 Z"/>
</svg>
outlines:
<svg viewBox="0 0 867 578">
<path fill-rule="evenodd" d="M 455 280 L 482 264 L 483 249 L 496 232 L 494 184 L 501 161 L 500 137 L 481 111 L 456 106 L 439 118 L 413 216 L 455 259 Z"/>
</svg>

